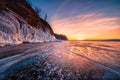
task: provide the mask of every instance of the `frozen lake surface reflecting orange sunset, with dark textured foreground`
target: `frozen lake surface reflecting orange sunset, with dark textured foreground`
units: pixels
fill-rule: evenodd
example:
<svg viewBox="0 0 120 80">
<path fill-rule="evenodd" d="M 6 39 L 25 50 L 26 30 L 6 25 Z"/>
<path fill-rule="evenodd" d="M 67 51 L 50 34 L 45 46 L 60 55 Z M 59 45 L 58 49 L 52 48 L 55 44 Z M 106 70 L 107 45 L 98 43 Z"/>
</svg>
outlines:
<svg viewBox="0 0 120 80">
<path fill-rule="evenodd" d="M 0 55 L 16 55 L 1 57 L 0 79 L 120 80 L 119 46 L 120 42 L 65 41 L 3 48 Z"/>
</svg>

